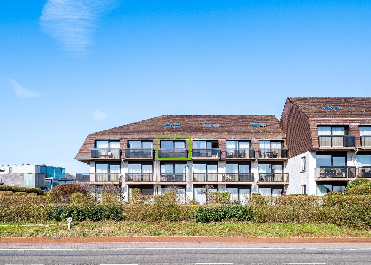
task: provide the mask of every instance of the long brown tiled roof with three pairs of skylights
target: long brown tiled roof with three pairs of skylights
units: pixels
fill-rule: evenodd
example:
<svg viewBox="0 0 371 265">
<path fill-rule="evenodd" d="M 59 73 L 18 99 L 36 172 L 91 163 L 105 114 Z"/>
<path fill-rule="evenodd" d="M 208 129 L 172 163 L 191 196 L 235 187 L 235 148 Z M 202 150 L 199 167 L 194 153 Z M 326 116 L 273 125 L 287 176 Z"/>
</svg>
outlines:
<svg viewBox="0 0 371 265">
<path fill-rule="evenodd" d="M 180 123 L 180 128 L 165 128 L 166 123 Z M 220 127 L 204 127 L 205 123 L 218 123 Z M 252 123 L 264 123 L 267 127 L 252 127 Z M 89 158 L 94 139 L 135 139 L 156 136 L 190 136 L 198 139 L 283 139 L 285 133 L 279 127 L 275 115 L 162 115 L 148 120 L 122 125 L 89 134 L 76 158 Z M 122 148 L 122 147 L 121 147 Z"/>
</svg>

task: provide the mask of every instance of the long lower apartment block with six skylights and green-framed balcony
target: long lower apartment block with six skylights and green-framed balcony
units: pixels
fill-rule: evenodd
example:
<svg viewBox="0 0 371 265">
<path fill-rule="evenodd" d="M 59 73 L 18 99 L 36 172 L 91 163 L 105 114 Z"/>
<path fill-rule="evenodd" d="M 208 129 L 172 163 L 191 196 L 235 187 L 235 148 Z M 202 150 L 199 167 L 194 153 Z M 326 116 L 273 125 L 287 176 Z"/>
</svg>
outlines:
<svg viewBox="0 0 371 265">
<path fill-rule="evenodd" d="M 286 135 L 274 115 L 162 115 L 89 134 L 76 160 L 80 181 L 163 194 L 168 186 L 205 202 L 203 186 L 232 200 L 281 195 L 289 184 Z"/>
</svg>

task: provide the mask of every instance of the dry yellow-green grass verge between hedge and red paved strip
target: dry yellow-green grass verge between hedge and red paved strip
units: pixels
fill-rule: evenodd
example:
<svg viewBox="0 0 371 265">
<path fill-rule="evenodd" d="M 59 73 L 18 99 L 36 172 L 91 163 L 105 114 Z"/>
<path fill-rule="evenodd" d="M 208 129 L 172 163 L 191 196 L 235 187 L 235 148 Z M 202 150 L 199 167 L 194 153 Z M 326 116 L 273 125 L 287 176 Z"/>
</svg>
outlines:
<svg viewBox="0 0 371 265">
<path fill-rule="evenodd" d="M 73 222 L 50 226 L 0 227 L 3 237 L 39 236 L 247 236 L 247 237 L 371 237 L 370 229 L 351 229 L 331 224 L 282 224 L 251 222 Z M 57 225 L 58 224 L 58 225 Z M 63 224 L 63 225 L 60 225 Z"/>
</svg>

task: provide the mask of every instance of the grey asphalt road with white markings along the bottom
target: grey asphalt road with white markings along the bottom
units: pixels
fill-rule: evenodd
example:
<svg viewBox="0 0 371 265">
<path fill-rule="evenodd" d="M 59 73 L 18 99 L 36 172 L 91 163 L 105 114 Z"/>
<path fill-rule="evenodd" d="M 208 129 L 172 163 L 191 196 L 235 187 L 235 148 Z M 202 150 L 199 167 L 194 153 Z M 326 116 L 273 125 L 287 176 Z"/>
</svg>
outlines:
<svg viewBox="0 0 371 265">
<path fill-rule="evenodd" d="M 370 243 L 2 243 L 0 264 L 371 264 Z"/>
</svg>

